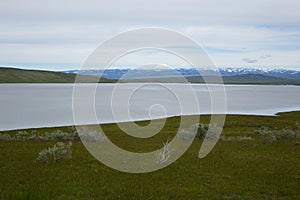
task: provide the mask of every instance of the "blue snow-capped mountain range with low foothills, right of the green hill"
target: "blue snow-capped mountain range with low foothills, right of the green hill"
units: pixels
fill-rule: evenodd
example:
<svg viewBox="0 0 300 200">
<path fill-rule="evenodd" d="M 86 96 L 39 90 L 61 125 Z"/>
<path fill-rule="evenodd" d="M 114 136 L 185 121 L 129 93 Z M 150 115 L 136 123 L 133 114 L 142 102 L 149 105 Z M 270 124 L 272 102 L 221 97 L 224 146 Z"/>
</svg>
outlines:
<svg viewBox="0 0 300 200">
<path fill-rule="evenodd" d="M 108 69 L 70 70 L 70 74 L 85 74 L 120 80 L 120 82 L 191 82 L 204 83 L 203 77 L 213 80 L 221 75 L 225 84 L 300 84 L 300 71 L 284 69 L 222 68 L 201 70 L 179 69 Z M 185 78 L 185 80 L 182 79 Z M 212 81 L 213 82 L 213 81 Z"/>
</svg>

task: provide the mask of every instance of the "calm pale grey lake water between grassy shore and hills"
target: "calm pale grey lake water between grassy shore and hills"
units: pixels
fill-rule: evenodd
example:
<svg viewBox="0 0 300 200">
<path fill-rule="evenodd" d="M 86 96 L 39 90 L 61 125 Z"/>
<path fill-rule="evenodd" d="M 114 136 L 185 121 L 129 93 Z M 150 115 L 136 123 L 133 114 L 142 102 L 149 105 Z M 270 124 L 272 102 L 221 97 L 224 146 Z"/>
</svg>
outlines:
<svg viewBox="0 0 300 200">
<path fill-rule="evenodd" d="M 82 84 L 80 87 L 89 90 L 94 86 Z M 226 98 L 216 99 L 226 105 L 225 110 L 212 110 L 211 94 L 222 93 L 221 87 L 212 88 L 209 92 L 203 84 L 132 83 L 118 84 L 117 89 L 115 86 L 97 85 L 94 95 L 97 120 L 83 116 L 82 121 L 76 124 L 188 114 L 274 115 L 282 111 L 300 110 L 299 86 L 225 85 Z M 184 98 L 179 99 L 178 96 Z M 81 93 L 81 102 L 76 104 L 80 110 L 90 105 L 88 98 Z M 199 108 L 191 105 L 188 109 L 181 109 L 181 101 L 189 105 L 193 98 L 197 99 Z M 73 100 L 73 84 L 0 84 L 0 130 L 74 125 Z M 128 111 L 130 117 L 122 112 L 118 114 L 122 110 Z"/>
</svg>

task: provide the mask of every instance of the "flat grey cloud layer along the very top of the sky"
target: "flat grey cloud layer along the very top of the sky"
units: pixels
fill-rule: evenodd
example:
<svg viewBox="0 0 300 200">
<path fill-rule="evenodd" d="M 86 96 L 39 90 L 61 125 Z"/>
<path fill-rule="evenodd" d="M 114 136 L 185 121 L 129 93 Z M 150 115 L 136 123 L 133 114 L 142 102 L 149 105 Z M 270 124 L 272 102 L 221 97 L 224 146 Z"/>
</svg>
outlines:
<svg viewBox="0 0 300 200">
<path fill-rule="evenodd" d="M 217 6 L 216 6 L 217 5 Z M 10 0 L 0 3 L 0 21 L 123 25 L 300 25 L 298 0 Z M 280 13 L 280 15 L 278 15 Z"/>
</svg>

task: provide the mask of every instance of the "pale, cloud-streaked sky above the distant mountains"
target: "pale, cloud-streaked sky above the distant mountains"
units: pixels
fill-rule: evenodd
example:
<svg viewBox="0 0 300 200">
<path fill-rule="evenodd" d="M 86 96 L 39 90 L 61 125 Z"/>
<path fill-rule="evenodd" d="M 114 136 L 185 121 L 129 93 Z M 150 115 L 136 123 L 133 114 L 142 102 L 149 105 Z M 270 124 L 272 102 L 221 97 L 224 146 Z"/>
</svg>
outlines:
<svg viewBox="0 0 300 200">
<path fill-rule="evenodd" d="M 1 1 L 0 66 L 79 69 L 112 36 L 161 27 L 195 40 L 216 66 L 300 70 L 299 10 L 299 0 Z M 131 58 L 123 64 L 142 62 Z"/>
</svg>

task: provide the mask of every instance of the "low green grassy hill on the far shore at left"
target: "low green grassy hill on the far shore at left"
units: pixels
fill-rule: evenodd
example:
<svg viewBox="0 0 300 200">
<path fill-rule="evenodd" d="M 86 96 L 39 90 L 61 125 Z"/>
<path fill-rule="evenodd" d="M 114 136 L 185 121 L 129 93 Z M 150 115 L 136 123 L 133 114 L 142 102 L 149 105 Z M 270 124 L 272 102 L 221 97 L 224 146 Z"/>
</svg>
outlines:
<svg viewBox="0 0 300 200">
<path fill-rule="evenodd" d="M 0 83 L 74 83 L 75 74 L 62 72 L 0 68 Z M 97 82 L 94 76 L 81 75 L 80 82 Z M 112 82 L 102 78 L 101 82 Z"/>
</svg>

